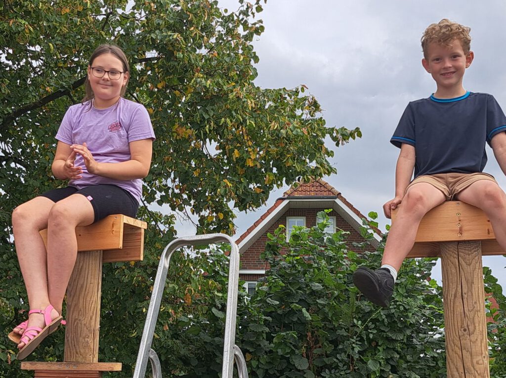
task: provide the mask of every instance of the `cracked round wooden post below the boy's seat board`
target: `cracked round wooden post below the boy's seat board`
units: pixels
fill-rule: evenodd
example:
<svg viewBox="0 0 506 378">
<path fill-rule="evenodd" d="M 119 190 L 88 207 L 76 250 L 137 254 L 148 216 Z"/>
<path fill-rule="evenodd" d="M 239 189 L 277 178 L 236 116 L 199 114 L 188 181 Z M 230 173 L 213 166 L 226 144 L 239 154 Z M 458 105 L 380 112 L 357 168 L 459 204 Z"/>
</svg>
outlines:
<svg viewBox="0 0 506 378">
<path fill-rule="evenodd" d="M 489 378 L 479 241 L 441 243 L 448 378 Z"/>
</svg>

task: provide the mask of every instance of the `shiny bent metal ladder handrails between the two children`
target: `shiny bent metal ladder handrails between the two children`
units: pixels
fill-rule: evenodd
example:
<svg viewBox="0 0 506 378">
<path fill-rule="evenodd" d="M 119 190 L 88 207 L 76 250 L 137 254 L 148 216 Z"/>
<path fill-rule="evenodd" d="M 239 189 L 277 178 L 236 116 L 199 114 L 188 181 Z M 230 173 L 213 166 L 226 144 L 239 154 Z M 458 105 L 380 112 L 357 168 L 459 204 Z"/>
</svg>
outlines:
<svg viewBox="0 0 506 378">
<path fill-rule="evenodd" d="M 160 258 L 156 279 L 153 286 L 148 315 L 142 332 L 141 346 L 137 355 L 137 362 L 133 378 L 143 378 L 146 374 L 148 359 L 151 363 L 153 378 L 162 378 L 161 365 L 156 352 L 151 349 L 153 334 L 160 311 L 160 303 L 165 288 L 168 264 L 176 249 L 185 246 L 196 246 L 228 242 L 231 246 L 228 273 L 227 312 L 225 317 L 225 343 L 223 345 L 222 378 L 232 378 L 234 360 L 237 364 L 239 378 L 248 378 L 246 362 L 241 350 L 235 345 L 235 321 L 237 317 L 237 285 L 239 283 L 239 247 L 232 238 L 225 234 L 208 234 L 180 237 L 168 243 Z"/>
</svg>

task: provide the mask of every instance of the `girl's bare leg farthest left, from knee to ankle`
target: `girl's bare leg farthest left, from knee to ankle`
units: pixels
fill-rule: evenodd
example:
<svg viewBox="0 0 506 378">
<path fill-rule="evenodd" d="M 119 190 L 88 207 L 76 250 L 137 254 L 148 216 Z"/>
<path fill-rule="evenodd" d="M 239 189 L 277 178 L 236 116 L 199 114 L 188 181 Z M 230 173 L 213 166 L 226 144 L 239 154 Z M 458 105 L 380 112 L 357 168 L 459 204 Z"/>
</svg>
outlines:
<svg viewBox="0 0 506 378">
<path fill-rule="evenodd" d="M 54 204 L 49 198 L 35 197 L 16 207 L 12 213 L 16 254 L 30 309 L 44 309 L 49 302 L 46 246 L 39 231 L 48 227 Z M 15 330 L 23 333 L 21 329 Z"/>
</svg>

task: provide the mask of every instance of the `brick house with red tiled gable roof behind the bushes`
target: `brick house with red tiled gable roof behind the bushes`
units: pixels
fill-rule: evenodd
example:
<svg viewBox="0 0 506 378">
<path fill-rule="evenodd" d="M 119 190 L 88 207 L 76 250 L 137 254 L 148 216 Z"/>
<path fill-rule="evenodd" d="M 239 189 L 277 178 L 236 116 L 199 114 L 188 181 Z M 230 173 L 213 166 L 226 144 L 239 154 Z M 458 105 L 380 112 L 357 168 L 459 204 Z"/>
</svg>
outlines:
<svg viewBox="0 0 506 378">
<path fill-rule="evenodd" d="M 265 274 L 266 263 L 260 259 L 265 249 L 267 233 L 274 233 L 279 225 L 286 227 L 287 237 L 294 226 L 312 227 L 317 224 L 317 213 L 332 209 L 328 214 L 331 225 L 327 232 L 336 228 L 350 232 L 348 240 L 363 242 L 360 234 L 362 218 L 366 218 L 340 192 L 323 180 L 311 181 L 292 186 L 237 240 L 241 253 L 240 278 L 245 280 L 248 292 L 255 290 L 257 280 Z M 382 238 L 379 229 L 373 229 L 374 238 L 370 242 L 376 247 Z"/>
</svg>

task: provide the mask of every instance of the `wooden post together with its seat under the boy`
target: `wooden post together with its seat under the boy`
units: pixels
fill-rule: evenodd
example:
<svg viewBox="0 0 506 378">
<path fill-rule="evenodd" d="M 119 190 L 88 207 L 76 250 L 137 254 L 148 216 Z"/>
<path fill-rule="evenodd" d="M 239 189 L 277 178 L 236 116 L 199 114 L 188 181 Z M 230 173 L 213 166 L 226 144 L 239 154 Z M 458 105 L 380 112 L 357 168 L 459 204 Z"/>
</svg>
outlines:
<svg viewBox="0 0 506 378">
<path fill-rule="evenodd" d="M 448 378 L 490 377 L 481 257 L 505 254 L 490 220 L 465 202 L 444 202 L 421 220 L 408 258 L 442 259 Z"/>
</svg>

